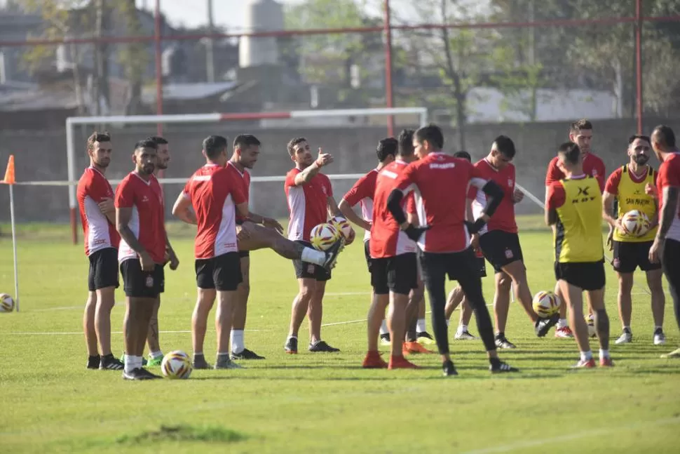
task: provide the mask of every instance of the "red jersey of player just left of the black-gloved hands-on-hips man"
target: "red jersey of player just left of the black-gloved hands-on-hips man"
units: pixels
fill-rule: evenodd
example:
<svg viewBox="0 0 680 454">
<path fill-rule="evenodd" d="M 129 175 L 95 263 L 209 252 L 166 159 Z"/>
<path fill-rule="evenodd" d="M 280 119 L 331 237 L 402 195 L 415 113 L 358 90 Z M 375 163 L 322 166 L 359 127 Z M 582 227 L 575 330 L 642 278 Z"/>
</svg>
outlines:
<svg viewBox="0 0 680 454">
<path fill-rule="evenodd" d="M 416 243 L 399 228 L 399 224 L 387 208 L 390 192 L 397 187 L 397 178 L 409 163 L 394 161 L 383 168 L 376 178 L 373 199 L 373 225 L 371 227 L 370 251 L 372 258 L 394 257 L 416 252 Z M 402 208 L 406 201 L 402 201 Z"/>
</svg>

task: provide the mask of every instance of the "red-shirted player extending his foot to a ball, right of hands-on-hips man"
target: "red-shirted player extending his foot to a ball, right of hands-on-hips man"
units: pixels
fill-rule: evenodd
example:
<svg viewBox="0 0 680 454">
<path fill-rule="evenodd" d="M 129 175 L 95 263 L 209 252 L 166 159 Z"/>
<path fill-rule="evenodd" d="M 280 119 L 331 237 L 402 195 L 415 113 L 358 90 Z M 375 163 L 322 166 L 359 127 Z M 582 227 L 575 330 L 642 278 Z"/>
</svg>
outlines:
<svg viewBox="0 0 680 454">
<path fill-rule="evenodd" d="M 496 272 L 494 314 L 498 348 L 515 348 L 515 345 L 505 337 L 505 323 L 508 321 L 510 309 L 510 290 L 513 287 L 515 297 L 531 319 L 538 337 L 545 336 L 559 319 L 557 314 L 542 319 L 533 312 L 532 295 L 526 280 L 526 267 L 515 222 L 515 203 L 522 201 L 524 194 L 515 188 L 515 166 L 511 163 L 514 158 L 515 144 L 507 136 L 499 135 L 491 145 L 487 157 L 475 163 L 475 168 L 482 178 L 494 181 L 505 193 L 496 214 L 479 232 L 479 243 L 484 258 L 493 265 Z M 487 205 L 486 198 L 484 192 L 477 191 L 475 200 L 472 201 L 472 213 L 475 217 L 479 218 L 484 206 Z"/>
</svg>

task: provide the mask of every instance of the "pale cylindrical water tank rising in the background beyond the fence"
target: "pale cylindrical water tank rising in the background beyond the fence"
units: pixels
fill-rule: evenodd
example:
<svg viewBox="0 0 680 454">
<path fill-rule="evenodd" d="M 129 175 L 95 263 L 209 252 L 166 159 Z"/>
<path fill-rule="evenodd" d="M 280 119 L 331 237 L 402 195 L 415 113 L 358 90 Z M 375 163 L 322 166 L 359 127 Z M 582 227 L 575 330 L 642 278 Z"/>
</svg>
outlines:
<svg viewBox="0 0 680 454">
<path fill-rule="evenodd" d="M 283 30 L 283 7 L 274 0 L 247 0 L 245 32 Z M 278 46 L 275 37 L 241 36 L 238 45 L 238 65 L 242 68 L 276 65 Z"/>
</svg>

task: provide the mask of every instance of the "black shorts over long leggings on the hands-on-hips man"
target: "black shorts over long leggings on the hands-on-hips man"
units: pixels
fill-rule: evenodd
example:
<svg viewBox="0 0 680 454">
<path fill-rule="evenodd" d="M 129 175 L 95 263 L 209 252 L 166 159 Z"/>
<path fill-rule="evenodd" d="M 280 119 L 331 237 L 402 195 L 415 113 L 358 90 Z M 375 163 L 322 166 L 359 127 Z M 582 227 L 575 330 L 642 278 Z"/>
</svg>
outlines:
<svg viewBox="0 0 680 454">
<path fill-rule="evenodd" d="M 423 281 L 441 279 L 442 274 L 449 276 L 449 281 L 481 279 L 478 260 L 472 248 L 452 253 L 430 253 L 419 251 Z M 481 281 L 480 281 L 481 282 Z"/>
</svg>

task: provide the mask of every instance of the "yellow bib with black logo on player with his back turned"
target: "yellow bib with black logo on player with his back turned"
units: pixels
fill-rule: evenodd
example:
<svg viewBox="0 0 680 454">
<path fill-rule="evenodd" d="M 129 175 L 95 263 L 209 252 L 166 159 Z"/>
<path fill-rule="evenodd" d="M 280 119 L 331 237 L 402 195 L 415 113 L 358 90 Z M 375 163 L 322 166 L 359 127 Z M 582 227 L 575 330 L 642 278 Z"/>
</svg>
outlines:
<svg viewBox="0 0 680 454">
<path fill-rule="evenodd" d="M 557 208 L 555 260 L 558 262 L 599 262 L 602 247 L 602 194 L 592 176 L 560 180 L 564 204 Z"/>
</svg>

